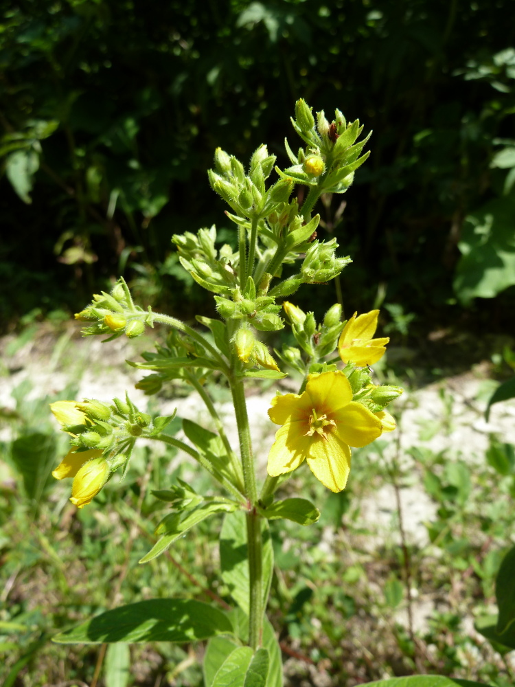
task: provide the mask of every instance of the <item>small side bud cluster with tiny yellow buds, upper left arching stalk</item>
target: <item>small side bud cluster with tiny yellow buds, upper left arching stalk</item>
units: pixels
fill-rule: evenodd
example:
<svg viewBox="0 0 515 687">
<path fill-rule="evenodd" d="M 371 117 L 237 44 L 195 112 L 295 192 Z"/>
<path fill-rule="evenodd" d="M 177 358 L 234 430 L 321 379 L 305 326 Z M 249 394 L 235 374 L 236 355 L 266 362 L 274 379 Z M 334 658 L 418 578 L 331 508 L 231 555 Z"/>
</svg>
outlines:
<svg viewBox="0 0 515 687">
<path fill-rule="evenodd" d="M 93 294 L 91 304 L 76 313 L 75 319 L 91 322 L 82 329 L 84 336 L 108 335 L 105 341 L 112 341 L 122 334 L 135 339 L 144 333 L 145 324 L 152 326 L 152 315 L 134 304 L 124 278 L 119 278 L 111 293 Z"/>
</svg>

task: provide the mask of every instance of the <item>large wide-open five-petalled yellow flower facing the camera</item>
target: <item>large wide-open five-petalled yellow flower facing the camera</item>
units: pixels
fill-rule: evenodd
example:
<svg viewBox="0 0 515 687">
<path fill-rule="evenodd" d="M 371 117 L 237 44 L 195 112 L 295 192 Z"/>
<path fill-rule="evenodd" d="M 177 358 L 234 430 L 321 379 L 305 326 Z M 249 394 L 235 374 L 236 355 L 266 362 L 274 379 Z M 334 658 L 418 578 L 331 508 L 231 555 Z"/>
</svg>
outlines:
<svg viewBox="0 0 515 687">
<path fill-rule="evenodd" d="M 282 425 L 268 455 L 268 474 L 290 472 L 306 459 L 314 476 L 335 492 L 347 484 L 350 446 L 366 446 L 382 431 L 380 419 L 352 401 L 343 372 L 310 374 L 304 394 L 276 396 L 268 415 Z"/>
</svg>

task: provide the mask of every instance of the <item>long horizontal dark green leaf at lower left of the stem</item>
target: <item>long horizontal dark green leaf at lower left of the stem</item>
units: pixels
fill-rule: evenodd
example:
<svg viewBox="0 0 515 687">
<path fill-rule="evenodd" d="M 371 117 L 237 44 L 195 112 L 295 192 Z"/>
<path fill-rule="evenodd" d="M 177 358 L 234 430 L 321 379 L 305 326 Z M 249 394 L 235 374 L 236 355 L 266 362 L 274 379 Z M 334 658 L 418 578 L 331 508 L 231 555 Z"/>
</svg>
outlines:
<svg viewBox="0 0 515 687">
<path fill-rule="evenodd" d="M 223 611 L 193 599 L 150 599 L 106 611 L 60 632 L 57 644 L 192 642 L 230 633 Z"/>
</svg>

